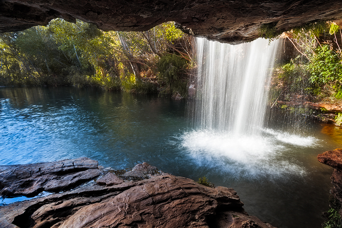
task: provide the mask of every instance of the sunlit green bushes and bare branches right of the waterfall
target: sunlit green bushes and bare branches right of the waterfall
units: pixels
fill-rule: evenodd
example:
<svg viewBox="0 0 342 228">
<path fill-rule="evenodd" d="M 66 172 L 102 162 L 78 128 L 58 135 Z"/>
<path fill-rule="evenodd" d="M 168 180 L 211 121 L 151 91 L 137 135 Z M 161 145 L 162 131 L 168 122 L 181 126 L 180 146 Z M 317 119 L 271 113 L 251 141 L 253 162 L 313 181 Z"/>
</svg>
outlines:
<svg viewBox="0 0 342 228">
<path fill-rule="evenodd" d="M 341 30 L 333 22 L 315 22 L 287 32 L 284 37 L 298 55 L 278 67 L 279 79 L 292 91 L 342 98 L 342 40 L 337 33 Z"/>
</svg>

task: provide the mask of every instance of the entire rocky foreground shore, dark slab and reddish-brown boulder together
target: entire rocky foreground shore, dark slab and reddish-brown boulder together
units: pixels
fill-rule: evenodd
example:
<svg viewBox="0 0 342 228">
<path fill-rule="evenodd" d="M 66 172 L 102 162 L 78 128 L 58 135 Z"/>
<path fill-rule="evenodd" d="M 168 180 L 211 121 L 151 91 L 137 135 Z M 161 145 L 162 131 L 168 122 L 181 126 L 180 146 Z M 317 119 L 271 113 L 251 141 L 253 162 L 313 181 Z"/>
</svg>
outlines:
<svg viewBox="0 0 342 228">
<path fill-rule="evenodd" d="M 147 163 L 131 170 L 89 158 L 0 166 L 1 228 L 274 228 L 250 216 L 233 188 L 207 187 Z"/>
</svg>

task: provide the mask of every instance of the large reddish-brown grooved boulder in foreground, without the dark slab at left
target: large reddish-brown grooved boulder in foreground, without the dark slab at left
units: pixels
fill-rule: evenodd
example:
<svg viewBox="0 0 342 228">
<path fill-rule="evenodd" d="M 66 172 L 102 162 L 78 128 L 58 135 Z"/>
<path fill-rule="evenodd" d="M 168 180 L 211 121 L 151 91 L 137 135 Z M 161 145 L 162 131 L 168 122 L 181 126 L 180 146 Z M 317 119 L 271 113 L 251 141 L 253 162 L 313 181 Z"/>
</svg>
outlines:
<svg viewBox="0 0 342 228">
<path fill-rule="evenodd" d="M 273 228 L 248 215 L 232 188 L 206 187 L 147 163 L 102 171 L 82 187 L 0 206 L 0 227 Z"/>
</svg>

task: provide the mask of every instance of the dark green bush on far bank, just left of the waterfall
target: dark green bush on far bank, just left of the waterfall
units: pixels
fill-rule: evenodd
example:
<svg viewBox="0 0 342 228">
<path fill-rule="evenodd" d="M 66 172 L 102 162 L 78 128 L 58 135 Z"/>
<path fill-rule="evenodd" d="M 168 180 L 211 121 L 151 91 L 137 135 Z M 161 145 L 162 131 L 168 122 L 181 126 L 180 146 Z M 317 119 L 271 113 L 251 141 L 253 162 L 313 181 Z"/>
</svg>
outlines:
<svg viewBox="0 0 342 228">
<path fill-rule="evenodd" d="M 174 97 L 186 97 L 188 93 L 187 79 L 184 76 L 187 61 L 177 55 L 165 55 L 157 64 L 158 80 L 165 83 L 161 94 Z"/>
</svg>

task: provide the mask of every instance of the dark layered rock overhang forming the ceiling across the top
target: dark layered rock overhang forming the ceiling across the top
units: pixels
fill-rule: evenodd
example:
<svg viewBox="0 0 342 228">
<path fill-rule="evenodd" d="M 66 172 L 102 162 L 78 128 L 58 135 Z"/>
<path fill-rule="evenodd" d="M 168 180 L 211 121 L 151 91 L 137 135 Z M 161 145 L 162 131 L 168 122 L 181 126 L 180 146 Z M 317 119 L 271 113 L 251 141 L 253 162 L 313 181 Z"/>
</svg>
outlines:
<svg viewBox="0 0 342 228">
<path fill-rule="evenodd" d="M 1 0 L 0 32 L 45 25 L 51 19 L 95 23 L 102 30 L 142 31 L 176 21 L 210 40 L 252 41 L 313 21 L 342 19 L 340 0 Z M 264 24 L 260 30 L 261 24 Z"/>
</svg>

